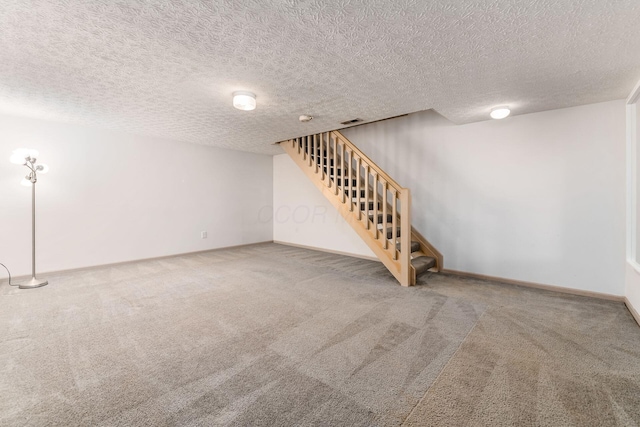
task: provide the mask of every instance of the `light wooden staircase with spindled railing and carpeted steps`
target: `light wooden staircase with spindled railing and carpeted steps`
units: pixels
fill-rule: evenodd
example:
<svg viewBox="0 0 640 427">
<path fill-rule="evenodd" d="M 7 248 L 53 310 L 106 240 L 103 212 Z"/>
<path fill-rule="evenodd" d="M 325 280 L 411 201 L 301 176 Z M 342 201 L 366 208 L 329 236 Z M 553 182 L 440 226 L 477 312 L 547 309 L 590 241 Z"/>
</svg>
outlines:
<svg viewBox="0 0 640 427">
<path fill-rule="evenodd" d="M 442 255 L 411 226 L 411 192 L 338 131 L 280 146 L 403 286 L 440 271 Z"/>
</svg>

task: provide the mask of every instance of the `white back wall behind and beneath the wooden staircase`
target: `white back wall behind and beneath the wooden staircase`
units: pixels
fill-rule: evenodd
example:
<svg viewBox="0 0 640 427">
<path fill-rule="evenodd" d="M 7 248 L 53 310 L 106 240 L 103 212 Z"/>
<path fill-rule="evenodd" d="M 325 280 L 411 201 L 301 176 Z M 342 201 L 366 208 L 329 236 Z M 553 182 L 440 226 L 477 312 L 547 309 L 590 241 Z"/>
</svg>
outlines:
<svg viewBox="0 0 640 427">
<path fill-rule="evenodd" d="M 414 225 L 445 268 L 623 295 L 624 108 L 612 101 L 463 126 L 427 111 L 343 133 L 412 190 Z M 276 210 L 321 203 L 301 180 L 275 159 Z M 335 231 L 284 222 L 274 238 L 327 248 Z M 331 249 L 361 253 L 355 233 L 342 238 Z"/>
</svg>

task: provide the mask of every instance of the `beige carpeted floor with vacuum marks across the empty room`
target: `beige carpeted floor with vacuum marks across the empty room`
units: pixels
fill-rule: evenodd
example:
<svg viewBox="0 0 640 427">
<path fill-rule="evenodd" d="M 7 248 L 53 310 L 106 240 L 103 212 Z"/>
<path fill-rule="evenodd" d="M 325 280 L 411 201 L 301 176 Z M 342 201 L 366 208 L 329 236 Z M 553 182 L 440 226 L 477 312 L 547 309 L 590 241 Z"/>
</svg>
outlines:
<svg viewBox="0 0 640 427">
<path fill-rule="evenodd" d="M 640 425 L 622 303 L 260 244 L 0 285 L 0 425 Z"/>
</svg>

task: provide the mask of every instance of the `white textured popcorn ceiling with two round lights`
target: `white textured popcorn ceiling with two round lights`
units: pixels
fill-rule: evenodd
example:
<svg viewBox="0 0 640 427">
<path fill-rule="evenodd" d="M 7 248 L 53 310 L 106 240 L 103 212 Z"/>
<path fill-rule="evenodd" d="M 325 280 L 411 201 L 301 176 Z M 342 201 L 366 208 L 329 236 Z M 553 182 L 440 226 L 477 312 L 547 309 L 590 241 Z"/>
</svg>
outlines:
<svg viewBox="0 0 640 427">
<path fill-rule="evenodd" d="M 2 0 L 0 112 L 272 154 L 356 117 L 624 98 L 639 29 L 638 0 Z"/>
</svg>

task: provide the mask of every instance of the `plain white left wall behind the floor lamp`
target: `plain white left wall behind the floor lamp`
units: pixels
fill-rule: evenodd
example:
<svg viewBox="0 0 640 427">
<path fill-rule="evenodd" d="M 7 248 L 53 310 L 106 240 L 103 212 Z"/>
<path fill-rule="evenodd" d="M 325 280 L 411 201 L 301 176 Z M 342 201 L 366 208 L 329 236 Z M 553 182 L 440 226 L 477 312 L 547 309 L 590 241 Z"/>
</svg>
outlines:
<svg viewBox="0 0 640 427">
<path fill-rule="evenodd" d="M 0 116 L 0 262 L 12 274 L 31 271 L 27 169 L 9 163 L 23 146 L 51 168 L 36 186 L 38 271 L 273 238 L 269 156 Z"/>
</svg>

